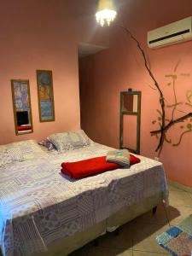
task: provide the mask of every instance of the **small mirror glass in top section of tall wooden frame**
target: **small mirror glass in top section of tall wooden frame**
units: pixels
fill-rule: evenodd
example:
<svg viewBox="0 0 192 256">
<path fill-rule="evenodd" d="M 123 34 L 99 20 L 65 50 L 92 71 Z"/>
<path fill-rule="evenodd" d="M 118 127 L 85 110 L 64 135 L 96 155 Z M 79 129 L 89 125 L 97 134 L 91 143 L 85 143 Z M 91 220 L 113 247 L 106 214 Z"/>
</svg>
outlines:
<svg viewBox="0 0 192 256">
<path fill-rule="evenodd" d="M 124 93 L 124 112 L 137 113 L 137 95 Z"/>
</svg>

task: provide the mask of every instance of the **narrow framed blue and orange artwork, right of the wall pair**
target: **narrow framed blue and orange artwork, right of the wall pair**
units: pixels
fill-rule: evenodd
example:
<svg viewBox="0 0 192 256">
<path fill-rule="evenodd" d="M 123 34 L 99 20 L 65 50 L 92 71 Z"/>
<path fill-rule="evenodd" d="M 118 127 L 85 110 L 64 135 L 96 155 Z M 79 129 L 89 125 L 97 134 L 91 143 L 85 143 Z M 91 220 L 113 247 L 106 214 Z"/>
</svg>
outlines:
<svg viewBox="0 0 192 256">
<path fill-rule="evenodd" d="M 53 76 L 50 70 L 37 70 L 40 122 L 55 121 Z"/>
</svg>

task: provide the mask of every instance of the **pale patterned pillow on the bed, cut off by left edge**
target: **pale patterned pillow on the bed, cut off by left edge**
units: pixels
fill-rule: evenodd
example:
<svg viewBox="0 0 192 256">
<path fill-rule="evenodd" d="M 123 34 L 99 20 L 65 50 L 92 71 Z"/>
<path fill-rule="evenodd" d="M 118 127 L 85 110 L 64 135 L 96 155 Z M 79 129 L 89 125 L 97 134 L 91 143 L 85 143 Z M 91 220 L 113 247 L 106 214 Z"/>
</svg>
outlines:
<svg viewBox="0 0 192 256">
<path fill-rule="evenodd" d="M 38 143 L 34 140 L 21 141 L 19 143 L 9 143 L 0 146 L 0 159 L 6 162 L 35 160 L 37 158 L 47 157 Z"/>
</svg>

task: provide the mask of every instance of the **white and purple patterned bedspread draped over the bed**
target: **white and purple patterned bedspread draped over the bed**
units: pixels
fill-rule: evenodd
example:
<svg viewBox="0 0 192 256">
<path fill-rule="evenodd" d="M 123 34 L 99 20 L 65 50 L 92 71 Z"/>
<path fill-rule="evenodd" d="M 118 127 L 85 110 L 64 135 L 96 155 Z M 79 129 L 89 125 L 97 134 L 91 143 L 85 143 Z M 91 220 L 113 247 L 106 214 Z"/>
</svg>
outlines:
<svg viewBox="0 0 192 256">
<path fill-rule="evenodd" d="M 166 178 L 160 162 L 141 158 L 130 169 L 72 180 L 62 176 L 61 162 L 106 155 L 106 146 L 89 147 L 46 160 L 26 161 L 0 168 L 0 237 L 3 255 L 31 255 L 51 241 L 73 236 L 121 207 L 162 192 Z"/>
</svg>

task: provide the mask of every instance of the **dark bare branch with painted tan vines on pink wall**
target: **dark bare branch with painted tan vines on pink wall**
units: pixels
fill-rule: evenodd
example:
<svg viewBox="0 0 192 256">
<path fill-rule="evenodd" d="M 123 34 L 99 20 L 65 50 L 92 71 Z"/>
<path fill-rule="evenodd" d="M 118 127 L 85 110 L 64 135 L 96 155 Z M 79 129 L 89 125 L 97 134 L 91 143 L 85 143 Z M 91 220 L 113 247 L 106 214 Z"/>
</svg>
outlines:
<svg viewBox="0 0 192 256">
<path fill-rule="evenodd" d="M 171 82 L 169 82 L 167 85 L 172 86 L 174 102 L 172 104 L 166 103 L 163 91 L 160 87 L 159 82 L 157 81 L 157 79 L 155 79 L 154 73 L 150 69 L 150 65 L 149 65 L 147 56 L 146 56 L 146 54 L 145 54 L 145 52 L 142 48 L 142 45 L 139 43 L 137 38 L 131 33 L 131 31 L 128 28 L 126 28 L 125 26 L 118 26 L 118 27 L 123 29 L 125 31 L 125 33 L 129 37 L 131 37 L 131 39 L 133 41 L 136 42 L 137 48 L 139 49 L 139 51 L 141 52 L 141 55 L 143 56 L 144 66 L 145 66 L 145 68 L 148 72 L 148 75 L 153 80 L 154 87 L 155 87 L 155 89 L 157 90 L 157 92 L 160 96 L 160 99 L 159 99 L 160 109 L 157 109 L 157 113 L 159 115 L 158 120 L 154 120 L 152 122 L 153 125 L 155 125 L 158 122 L 158 124 L 160 126 L 160 129 L 150 131 L 151 135 L 152 136 L 155 135 L 159 140 L 159 143 L 158 143 L 157 148 L 155 149 L 155 151 L 158 152 L 158 155 L 160 155 L 160 152 L 161 152 L 165 142 L 166 143 L 172 143 L 172 146 L 178 146 L 181 143 L 183 136 L 192 131 L 192 112 L 186 113 L 183 110 L 178 110 L 177 109 L 178 107 L 181 107 L 183 105 L 187 105 L 187 106 L 192 108 L 192 90 L 188 90 L 186 92 L 186 102 L 178 102 L 177 101 L 177 93 L 176 93 L 177 74 L 176 73 L 167 74 L 166 78 L 171 79 Z M 176 69 L 177 69 L 177 67 L 175 68 L 175 70 Z M 181 74 L 181 75 L 189 77 L 189 74 Z M 167 113 L 166 113 L 167 109 L 172 110 L 171 117 L 167 117 Z M 179 118 L 177 118 L 176 114 L 175 114 L 176 111 L 180 111 L 181 113 L 183 113 L 183 115 L 181 115 Z M 192 111 L 192 109 L 191 109 L 191 111 Z M 181 135 L 180 135 L 178 141 L 177 142 L 172 142 L 172 139 L 167 137 L 167 131 L 173 125 L 176 125 L 178 123 L 182 124 L 182 125 L 180 125 L 180 129 L 181 129 L 182 132 L 181 132 Z"/>
</svg>

